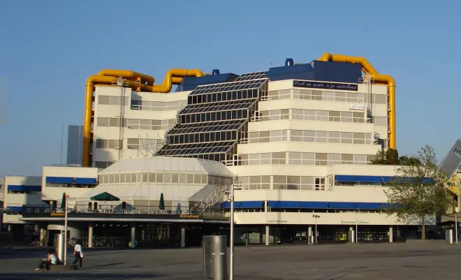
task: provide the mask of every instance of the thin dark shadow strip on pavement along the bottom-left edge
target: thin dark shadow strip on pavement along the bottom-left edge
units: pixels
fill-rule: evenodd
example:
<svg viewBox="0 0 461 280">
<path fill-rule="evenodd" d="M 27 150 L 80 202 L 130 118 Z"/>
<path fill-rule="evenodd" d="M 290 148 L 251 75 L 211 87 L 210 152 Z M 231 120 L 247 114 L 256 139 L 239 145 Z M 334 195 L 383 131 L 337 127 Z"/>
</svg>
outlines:
<svg viewBox="0 0 461 280">
<path fill-rule="evenodd" d="M 36 272 L 36 273 L 0 273 L 0 279 L 2 280 L 49 280 L 49 279 L 152 279 L 162 277 L 161 274 L 154 273 L 104 273 L 104 274 L 87 274 L 87 273 L 55 273 L 55 272 Z"/>
</svg>

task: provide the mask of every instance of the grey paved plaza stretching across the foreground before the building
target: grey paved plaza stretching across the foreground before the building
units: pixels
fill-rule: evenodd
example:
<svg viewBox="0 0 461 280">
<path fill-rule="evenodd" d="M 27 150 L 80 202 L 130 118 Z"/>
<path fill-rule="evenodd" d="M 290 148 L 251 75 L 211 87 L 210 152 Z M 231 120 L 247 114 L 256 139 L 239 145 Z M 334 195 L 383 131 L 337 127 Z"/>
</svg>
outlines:
<svg viewBox="0 0 461 280">
<path fill-rule="evenodd" d="M 203 279 L 200 248 L 94 249 L 85 251 L 84 270 L 34 271 L 45 253 L 45 249 L 2 253 L 0 279 Z M 235 248 L 235 279 L 461 279 L 461 246 L 420 242 L 240 246 Z"/>
</svg>

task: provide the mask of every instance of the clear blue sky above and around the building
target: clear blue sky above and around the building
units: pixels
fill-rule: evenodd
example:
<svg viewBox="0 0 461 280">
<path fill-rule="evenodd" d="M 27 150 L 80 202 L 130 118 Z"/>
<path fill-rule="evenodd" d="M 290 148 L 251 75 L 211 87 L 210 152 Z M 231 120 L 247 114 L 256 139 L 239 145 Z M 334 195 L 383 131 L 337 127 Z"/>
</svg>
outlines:
<svg viewBox="0 0 461 280">
<path fill-rule="evenodd" d="M 163 80 L 169 68 L 240 74 L 324 52 L 393 75 L 397 149 L 428 144 L 441 159 L 461 138 L 460 14 L 455 0 L 0 1 L 0 176 L 59 163 L 61 124 L 82 124 L 85 80 L 103 68 Z"/>
</svg>

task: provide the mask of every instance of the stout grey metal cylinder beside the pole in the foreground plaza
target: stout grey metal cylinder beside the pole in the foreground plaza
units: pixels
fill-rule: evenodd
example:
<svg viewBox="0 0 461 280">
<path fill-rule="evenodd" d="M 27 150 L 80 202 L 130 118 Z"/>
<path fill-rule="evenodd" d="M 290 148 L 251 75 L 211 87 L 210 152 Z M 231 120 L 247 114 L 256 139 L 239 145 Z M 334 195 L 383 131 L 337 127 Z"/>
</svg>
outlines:
<svg viewBox="0 0 461 280">
<path fill-rule="evenodd" d="M 228 279 L 227 235 L 203 237 L 203 275 L 205 279 Z"/>
</svg>

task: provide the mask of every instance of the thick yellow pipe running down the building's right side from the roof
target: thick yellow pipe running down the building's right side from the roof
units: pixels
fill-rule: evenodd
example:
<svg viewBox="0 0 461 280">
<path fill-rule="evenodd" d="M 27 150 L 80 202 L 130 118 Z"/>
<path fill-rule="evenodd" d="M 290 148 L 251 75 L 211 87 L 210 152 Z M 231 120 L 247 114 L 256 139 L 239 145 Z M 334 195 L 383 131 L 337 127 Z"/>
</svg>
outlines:
<svg viewBox="0 0 461 280">
<path fill-rule="evenodd" d="M 389 119 L 389 147 L 397 149 L 397 143 L 395 141 L 395 80 L 390 75 L 381 75 L 376 69 L 370 64 L 367 59 L 363 57 L 348 57 L 344 54 L 329 54 L 325 52 L 319 59 L 319 61 L 336 61 L 336 62 L 347 62 L 347 63 L 358 63 L 362 66 L 364 73 L 370 73 L 374 81 L 379 83 L 387 84 L 389 94 L 389 108 L 388 119 Z"/>
</svg>

